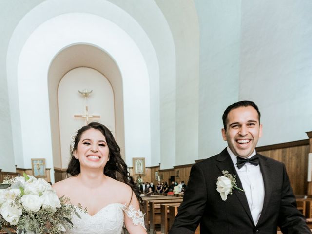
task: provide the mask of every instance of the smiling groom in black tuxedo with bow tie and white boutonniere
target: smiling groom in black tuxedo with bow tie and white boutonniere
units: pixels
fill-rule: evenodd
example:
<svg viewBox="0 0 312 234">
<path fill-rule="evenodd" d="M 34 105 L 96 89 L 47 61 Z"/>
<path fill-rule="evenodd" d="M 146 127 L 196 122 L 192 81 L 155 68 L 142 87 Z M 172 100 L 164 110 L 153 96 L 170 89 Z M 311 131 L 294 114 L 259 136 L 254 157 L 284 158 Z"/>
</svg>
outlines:
<svg viewBox="0 0 312 234">
<path fill-rule="evenodd" d="M 239 101 L 222 118 L 228 147 L 192 167 L 169 234 L 193 234 L 199 223 L 201 234 L 276 234 L 277 226 L 284 234 L 311 234 L 296 208 L 284 164 L 255 152 L 262 135 L 258 107 Z M 232 186 L 225 177 L 217 191 L 218 177 L 229 174 L 243 191 L 229 193 Z"/>
</svg>

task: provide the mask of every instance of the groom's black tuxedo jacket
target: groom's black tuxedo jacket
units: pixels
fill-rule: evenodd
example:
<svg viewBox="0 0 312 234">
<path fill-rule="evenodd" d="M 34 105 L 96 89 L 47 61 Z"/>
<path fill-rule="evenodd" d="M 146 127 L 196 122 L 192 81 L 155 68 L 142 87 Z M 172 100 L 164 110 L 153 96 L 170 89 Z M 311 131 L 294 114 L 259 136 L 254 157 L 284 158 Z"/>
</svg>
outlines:
<svg viewBox="0 0 312 234">
<path fill-rule="evenodd" d="M 265 196 L 256 226 L 244 192 L 234 189 L 223 201 L 216 191 L 216 181 L 218 176 L 223 176 L 223 170 L 237 175 L 224 149 L 192 167 L 183 202 L 169 234 L 193 234 L 199 223 L 201 234 L 276 234 L 277 226 L 284 234 L 310 234 L 303 215 L 296 208 L 284 164 L 257 155 Z M 238 176 L 236 182 L 242 188 Z"/>
</svg>

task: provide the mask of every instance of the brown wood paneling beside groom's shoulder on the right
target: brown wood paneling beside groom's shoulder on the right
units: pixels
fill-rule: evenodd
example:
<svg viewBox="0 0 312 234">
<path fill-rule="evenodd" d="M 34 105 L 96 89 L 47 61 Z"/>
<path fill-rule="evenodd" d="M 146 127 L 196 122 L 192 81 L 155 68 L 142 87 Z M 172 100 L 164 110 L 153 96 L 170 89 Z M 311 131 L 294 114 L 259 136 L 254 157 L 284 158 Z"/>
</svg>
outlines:
<svg viewBox="0 0 312 234">
<path fill-rule="evenodd" d="M 307 194 L 309 145 L 257 151 L 285 164 L 294 194 Z"/>
</svg>

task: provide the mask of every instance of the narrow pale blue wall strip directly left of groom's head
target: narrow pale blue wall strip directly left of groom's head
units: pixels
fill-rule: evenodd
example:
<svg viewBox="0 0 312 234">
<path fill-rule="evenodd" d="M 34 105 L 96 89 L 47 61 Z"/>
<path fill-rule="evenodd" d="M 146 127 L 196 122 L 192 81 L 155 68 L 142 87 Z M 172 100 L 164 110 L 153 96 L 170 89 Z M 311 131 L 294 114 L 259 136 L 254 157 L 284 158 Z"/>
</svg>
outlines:
<svg viewBox="0 0 312 234">
<path fill-rule="evenodd" d="M 207 158 L 226 146 L 222 114 L 238 100 L 241 1 L 195 4 L 200 27 L 198 158 Z"/>
</svg>

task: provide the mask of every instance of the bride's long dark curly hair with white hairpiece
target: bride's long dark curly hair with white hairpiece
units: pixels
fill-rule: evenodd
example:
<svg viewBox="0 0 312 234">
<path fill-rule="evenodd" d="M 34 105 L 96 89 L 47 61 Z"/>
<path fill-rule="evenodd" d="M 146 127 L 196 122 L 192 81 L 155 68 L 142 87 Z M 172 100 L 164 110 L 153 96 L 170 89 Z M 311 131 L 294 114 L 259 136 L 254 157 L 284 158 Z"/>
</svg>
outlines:
<svg viewBox="0 0 312 234">
<path fill-rule="evenodd" d="M 138 187 L 135 185 L 132 176 L 130 176 L 130 173 L 128 172 L 127 164 L 121 158 L 120 147 L 117 145 L 111 131 L 103 124 L 92 122 L 78 130 L 76 137 L 72 139 L 72 144 L 70 147 L 71 159 L 69 161 L 66 172 L 72 176 L 77 176 L 80 173 L 80 162 L 74 157 L 74 152 L 77 150 L 78 142 L 80 141 L 82 133 L 91 128 L 99 130 L 104 135 L 107 146 L 109 148 L 109 161 L 107 161 L 104 167 L 104 175 L 129 185 L 137 196 L 140 205 L 143 205 L 143 200 L 140 197 L 141 193 Z"/>
</svg>

